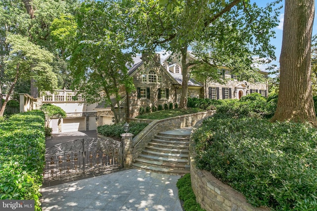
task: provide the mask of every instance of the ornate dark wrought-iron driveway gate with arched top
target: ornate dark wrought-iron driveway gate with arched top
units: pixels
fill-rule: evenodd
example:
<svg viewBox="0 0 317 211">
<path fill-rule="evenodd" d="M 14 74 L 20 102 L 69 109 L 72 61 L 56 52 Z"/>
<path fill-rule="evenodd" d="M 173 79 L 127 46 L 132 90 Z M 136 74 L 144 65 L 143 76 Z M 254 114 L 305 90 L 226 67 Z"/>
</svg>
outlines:
<svg viewBox="0 0 317 211">
<path fill-rule="evenodd" d="M 123 168 L 120 141 L 83 138 L 46 149 L 44 182 Z"/>
</svg>

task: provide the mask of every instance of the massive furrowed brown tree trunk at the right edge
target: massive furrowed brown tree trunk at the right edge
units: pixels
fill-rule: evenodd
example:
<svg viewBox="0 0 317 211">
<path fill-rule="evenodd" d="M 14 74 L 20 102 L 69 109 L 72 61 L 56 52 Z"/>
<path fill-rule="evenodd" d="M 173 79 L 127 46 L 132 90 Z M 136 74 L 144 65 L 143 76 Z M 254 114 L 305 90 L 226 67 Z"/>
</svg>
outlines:
<svg viewBox="0 0 317 211">
<path fill-rule="evenodd" d="M 272 121 L 316 125 L 311 85 L 314 15 L 315 0 L 285 0 L 279 95 Z"/>
</svg>

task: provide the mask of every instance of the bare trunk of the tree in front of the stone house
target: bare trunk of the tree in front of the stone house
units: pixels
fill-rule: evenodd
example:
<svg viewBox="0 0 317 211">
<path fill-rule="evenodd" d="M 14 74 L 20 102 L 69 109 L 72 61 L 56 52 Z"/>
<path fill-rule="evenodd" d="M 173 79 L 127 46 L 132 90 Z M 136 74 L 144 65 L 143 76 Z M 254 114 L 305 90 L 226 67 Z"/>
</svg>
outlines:
<svg viewBox="0 0 317 211">
<path fill-rule="evenodd" d="M 188 73 L 188 65 L 187 65 L 187 45 L 181 49 L 182 54 L 182 95 L 180 97 L 180 104 L 179 108 L 187 108 L 187 93 L 188 93 L 188 80 L 189 80 L 189 73 Z"/>
</svg>

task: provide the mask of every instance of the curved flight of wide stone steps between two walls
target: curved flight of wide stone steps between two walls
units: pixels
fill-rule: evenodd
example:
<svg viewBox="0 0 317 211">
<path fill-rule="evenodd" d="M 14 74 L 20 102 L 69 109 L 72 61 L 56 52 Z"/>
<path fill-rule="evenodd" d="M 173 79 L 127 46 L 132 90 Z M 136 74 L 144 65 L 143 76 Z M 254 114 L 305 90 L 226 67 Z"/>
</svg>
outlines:
<svg viewBox="0 0 317 211">
<path fill-rule="evenodd" d="M 177 175 L 190 173 L 190 132 L 191 128 L 181 128 L 158 133 L 133 163 L 133 167 Z"/>
</svg>

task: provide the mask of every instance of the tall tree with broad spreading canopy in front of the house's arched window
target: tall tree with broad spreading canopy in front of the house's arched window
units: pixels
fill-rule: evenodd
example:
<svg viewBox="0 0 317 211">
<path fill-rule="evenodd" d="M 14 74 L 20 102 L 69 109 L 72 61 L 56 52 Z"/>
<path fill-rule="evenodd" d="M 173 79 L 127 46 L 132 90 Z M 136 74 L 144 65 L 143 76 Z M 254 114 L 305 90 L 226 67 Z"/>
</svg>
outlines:
<svg viewBox="0 0 317 211">
<path fill-rule="evenodd" d="M 135 28 L 140 26 L 136 35 L 138 42 L 143 43 L 141 46 L 152 49 L 160 46 L 180 55 L 183 75 L 180 107 L 186 108 L 192 66 L 205 62 L 214 67 L 219 64 L 217 61 L 229 65 L 232 58 L 241 55 L 274 58 L 269 39 L 274 37 L 270 29 L 277 23 L 277 12 L 272 9 L 276 2 L 279 1 L 259 8 L 249 0 L 134 0 L 136 6 L 131 11 L 135 16 L 131 16 Z M 197 53 L 196 61 L 187 59 L 189 46 Z M 211 56 L 213 51 L 218 54 Z M 252 61 L 251 56 L 243 58 Z"/>
</svg>

